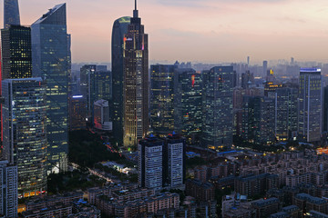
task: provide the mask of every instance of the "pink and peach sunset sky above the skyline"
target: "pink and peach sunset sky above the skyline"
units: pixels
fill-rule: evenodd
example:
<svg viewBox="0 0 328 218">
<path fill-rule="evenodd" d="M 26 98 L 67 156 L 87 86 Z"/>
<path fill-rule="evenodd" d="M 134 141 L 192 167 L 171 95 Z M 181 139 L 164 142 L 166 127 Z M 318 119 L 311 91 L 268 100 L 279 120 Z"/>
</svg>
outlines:
<svg viewBox="0 0 328 218">
<path fill-rule="evenodd" d="M 20 0 L 22 25 L 61 3 Z M 133 8 L 133 0 L 67 0 L 73 61 L 110 62 L 113 22 Z M 328 62 L 327 0 L 138 0 L 138 10 L 151 60 Z"/>
</svg>

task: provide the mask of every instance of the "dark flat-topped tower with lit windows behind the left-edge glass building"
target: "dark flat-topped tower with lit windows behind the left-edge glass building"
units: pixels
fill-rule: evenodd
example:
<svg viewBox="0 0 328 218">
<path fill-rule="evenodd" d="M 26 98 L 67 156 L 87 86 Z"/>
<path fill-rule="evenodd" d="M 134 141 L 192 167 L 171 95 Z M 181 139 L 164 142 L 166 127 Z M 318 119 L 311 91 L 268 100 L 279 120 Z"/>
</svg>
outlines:
<svg viewBox="0 0 328 218">
<path fill-rule="evenodd" d="M 1 30 L 2 79 L 32 76 L 31 28 L 10 25 Z"/>
</svg>

